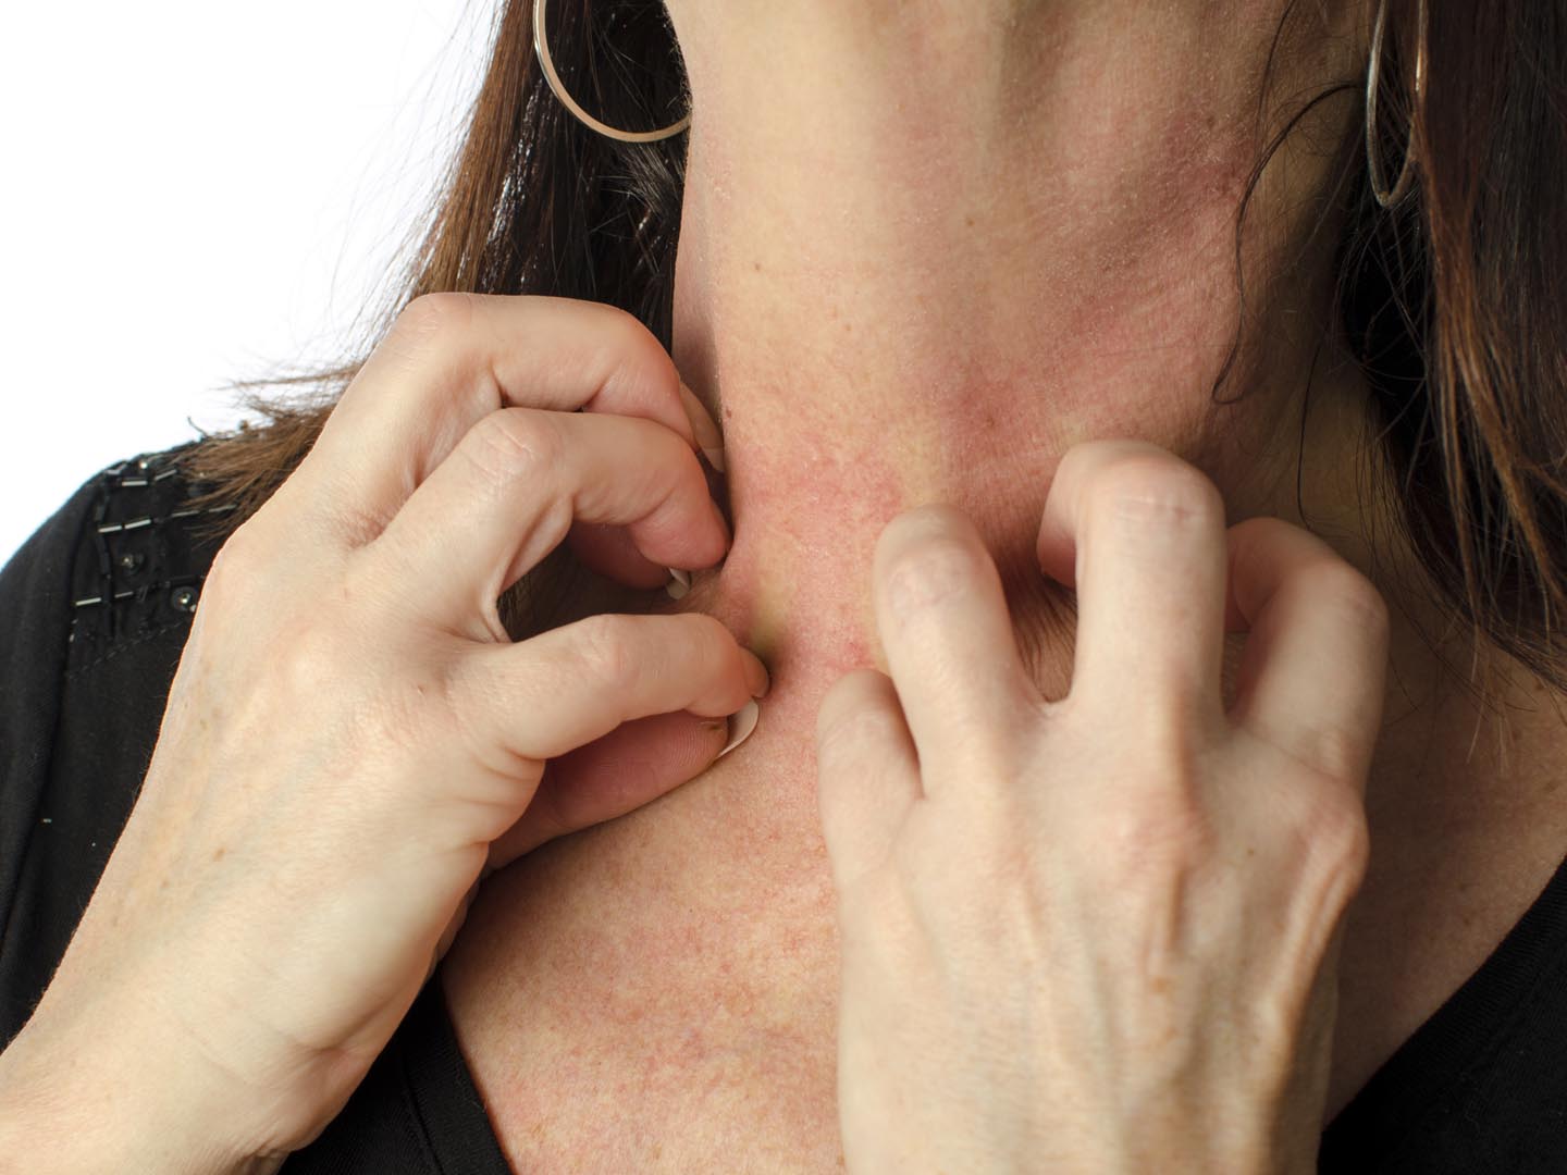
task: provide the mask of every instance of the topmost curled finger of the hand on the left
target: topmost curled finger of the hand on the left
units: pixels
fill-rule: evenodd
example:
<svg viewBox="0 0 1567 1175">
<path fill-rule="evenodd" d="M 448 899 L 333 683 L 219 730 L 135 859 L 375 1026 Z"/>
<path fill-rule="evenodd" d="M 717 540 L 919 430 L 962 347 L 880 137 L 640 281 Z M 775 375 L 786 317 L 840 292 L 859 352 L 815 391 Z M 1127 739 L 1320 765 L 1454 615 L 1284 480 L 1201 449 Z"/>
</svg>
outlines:
<svg viewBox="0 0 1567 1175">
<path fill-rule="evenodd" d="M 697 448 L 674 360 L 624 310 L 570 298 L 434 293 L 398 315 L 295 478 L 357 547 L 478 420 L 506 406 L 641 417 Z"/>
</svg>

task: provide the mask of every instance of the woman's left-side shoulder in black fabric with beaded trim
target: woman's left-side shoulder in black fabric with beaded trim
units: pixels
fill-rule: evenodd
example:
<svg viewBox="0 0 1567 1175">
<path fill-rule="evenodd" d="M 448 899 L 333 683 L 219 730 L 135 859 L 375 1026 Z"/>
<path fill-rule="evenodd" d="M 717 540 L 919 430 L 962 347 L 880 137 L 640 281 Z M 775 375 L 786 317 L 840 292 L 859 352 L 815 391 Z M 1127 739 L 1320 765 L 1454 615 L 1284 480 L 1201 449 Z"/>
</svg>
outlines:
<svg viewBox="0 0 1567 1175">
<path fill-rule="evenodd" d="M 124 827 L 221 539 L 183 459 L 108 465 L 0 569 L 0 1047 Z M 204 525 L 208 523 L 208 525 Z"/>
</svg>

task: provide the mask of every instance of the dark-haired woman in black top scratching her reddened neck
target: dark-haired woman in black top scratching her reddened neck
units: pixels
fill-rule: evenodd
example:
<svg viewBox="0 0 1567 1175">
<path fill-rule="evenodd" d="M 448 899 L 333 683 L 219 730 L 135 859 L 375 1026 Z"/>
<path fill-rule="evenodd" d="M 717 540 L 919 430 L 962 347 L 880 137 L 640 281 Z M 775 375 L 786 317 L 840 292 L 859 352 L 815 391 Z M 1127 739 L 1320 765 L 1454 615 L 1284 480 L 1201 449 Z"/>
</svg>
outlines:
<svg viewBox="0 0 1567 1175">
<path fill-rule="evenodd" d="M 1561 1169 L 1567 9 L 588 14 L 8 567 L 0 1153 Z"/>
</svg>

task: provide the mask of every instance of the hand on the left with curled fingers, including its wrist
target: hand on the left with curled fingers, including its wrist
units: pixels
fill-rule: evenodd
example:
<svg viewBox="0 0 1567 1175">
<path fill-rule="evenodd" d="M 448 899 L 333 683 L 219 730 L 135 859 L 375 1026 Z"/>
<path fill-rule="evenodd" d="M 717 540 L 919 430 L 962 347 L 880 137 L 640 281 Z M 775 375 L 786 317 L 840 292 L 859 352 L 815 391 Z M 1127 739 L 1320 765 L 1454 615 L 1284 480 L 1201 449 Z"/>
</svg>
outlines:
<svg viewBox="0 0 1567 1175">
<path fill-rule="evenodd" d="M 719 620 L 514 644 L 497 611 L 569 533 L 641 588 L 724 556 L 689 403 L 613 307 L 403 312 L 212 564 L 141 794 L 0 1058 L 5 1114 L 20 1098 L 81 1170 L 276 1166 L 342 1109 L 487 868 L 711 763 L 766 692 Z"/>
</svg>

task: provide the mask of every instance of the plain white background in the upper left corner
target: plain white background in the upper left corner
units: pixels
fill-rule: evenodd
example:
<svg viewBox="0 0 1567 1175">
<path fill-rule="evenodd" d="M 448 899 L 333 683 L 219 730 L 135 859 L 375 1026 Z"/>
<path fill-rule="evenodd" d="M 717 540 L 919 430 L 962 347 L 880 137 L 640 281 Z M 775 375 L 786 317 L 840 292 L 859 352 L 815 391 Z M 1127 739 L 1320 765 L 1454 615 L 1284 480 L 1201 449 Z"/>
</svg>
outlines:
<svg viewBox="0 0 1567 1175">
<path fill-rule="evenodd" d="M 99 468 L 343 354 L 456 147 L 498 0 L 0 16 L 0 564 Z"/>
</svg>

